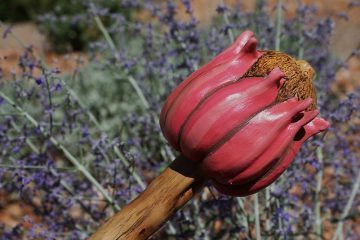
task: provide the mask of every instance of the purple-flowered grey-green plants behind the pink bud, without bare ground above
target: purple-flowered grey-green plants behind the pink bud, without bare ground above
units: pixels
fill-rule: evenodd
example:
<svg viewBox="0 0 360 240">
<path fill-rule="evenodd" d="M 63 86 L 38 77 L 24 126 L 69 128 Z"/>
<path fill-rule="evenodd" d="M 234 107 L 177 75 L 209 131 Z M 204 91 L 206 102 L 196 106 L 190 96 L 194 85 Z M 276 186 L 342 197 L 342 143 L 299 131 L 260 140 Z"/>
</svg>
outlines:
<svg viewBox="0 0 360 240">
<path fill-rule="evenodd" d="M 20 70 L 1 79 L 0 195 L 32 209 L 18 225 L 1 225 L 1 239 L 85 239 L 137 196 L 176 154 L 158 126 L 166 96 L 245 29 L 255 32 L 260 49 L 311 63 L 318 105 L 331 128 L 308 141 L 255 201 L 209 185 L 153 238 L 322 239 L 331 229 L 333 239 L 359 237 L 344 222 L 359 219 L 360 89 L 342 99 L 331 90 L 345 64 L 329 50 L 332 18 L 299 4 L 296 15 L 284 19 L 281 1 L 274 11 L 257 1 L 253 12 L 221 4 L 203 27 L 188 0 L 121 1 L 123 12 L 149 14 L 146 22 L 129 21 L 101 3 L 90 2 L 78 17 L 103 36 L 89 43 L 86 63 L 76 59 L 74 71 L 62 73 L 24 44 Z M 186 20 L 176 18 L 179 4 Z M 46 16 L 52 24 L 55 18 Z M 104 19 L 111 24 L 105 27 Z M 11 30 L 6 37 L 17 39 Z"/>
</svg>

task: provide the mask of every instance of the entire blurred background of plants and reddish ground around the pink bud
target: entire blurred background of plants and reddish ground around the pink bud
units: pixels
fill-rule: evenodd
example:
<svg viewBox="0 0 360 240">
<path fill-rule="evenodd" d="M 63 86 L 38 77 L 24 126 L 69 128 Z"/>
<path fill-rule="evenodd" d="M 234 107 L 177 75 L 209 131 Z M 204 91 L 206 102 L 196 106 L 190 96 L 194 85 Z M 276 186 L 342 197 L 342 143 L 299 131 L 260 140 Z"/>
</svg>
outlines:
<svg viewBox="0 0 360 240">
<path fill-rule="evenodd" d="M 177 232 L 166 225 L 154 239 L 256 239 L 256 221 L 267 239 L 360 239 L 350 198 L 360 1 L 350 0 L 0 0 L 0 91 L 100 185 L 0 97 L 0 239 L 86 239 L 137 196 L 176 154 L 158 126 L 169 92 L 229 45 L 230 30 L 249 28 L 260 49 L 279 42 L 312 64 L 331 128 L 271 188 L 232 198 L 207 186 L 171 220 Z"/>
</svg>

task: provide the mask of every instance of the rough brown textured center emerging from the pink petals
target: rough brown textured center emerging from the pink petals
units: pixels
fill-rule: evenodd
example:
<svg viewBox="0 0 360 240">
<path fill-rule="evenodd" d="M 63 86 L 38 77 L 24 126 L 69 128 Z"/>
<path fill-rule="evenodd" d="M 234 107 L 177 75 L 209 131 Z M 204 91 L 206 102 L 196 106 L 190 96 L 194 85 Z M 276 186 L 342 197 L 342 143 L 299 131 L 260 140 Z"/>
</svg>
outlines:
<svg viewBox="0 0 360 240">
<path fill-rule="evenodd" d="M 279 67 L 285 74 L 286 81 L 279 90 L 277 102 L 285 101 L 292 97 L 299 100 L 312 98 L 313 103 L 307 111 L 316 109 L 316 91 L 313 85 L 314 69 L 304 60 L 296 60 L 289 55 L 278 51 L 261 51 L 263 55 L 249 69 L 245 76 L 264 77 L 275 67 Z"/>
</svg>

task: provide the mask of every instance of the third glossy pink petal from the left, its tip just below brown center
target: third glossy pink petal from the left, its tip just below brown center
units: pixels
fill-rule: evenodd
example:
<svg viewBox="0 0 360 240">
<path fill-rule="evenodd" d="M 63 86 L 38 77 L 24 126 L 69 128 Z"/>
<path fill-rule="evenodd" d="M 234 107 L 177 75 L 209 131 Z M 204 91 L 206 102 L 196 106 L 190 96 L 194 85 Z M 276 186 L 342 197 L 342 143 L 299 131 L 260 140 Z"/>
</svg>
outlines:
<svg viewBox="0 0 360 240">
<path fill-rule="evenodd" d="M 265 109 L 247 124 L 222 139 L 204 159 L 205 172 L 219 182 L 232 178 L 247 168 L 276 139 L 297 113 L 304 111 L 312 100 L 291 99 Z"/>
</svg>

